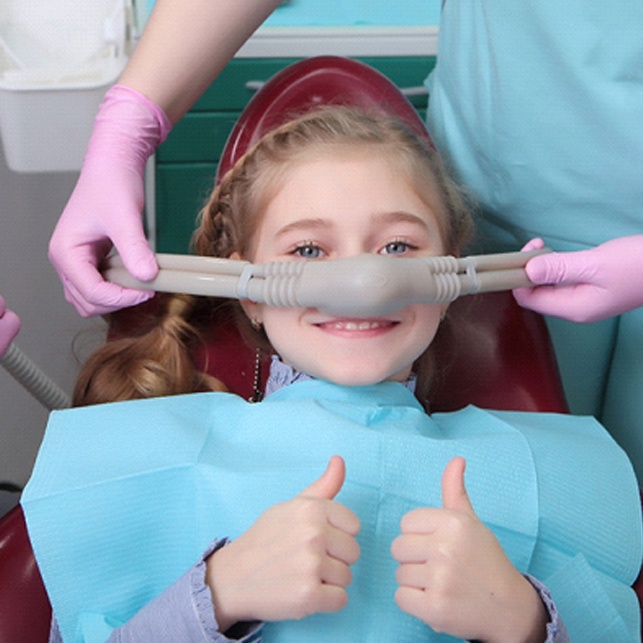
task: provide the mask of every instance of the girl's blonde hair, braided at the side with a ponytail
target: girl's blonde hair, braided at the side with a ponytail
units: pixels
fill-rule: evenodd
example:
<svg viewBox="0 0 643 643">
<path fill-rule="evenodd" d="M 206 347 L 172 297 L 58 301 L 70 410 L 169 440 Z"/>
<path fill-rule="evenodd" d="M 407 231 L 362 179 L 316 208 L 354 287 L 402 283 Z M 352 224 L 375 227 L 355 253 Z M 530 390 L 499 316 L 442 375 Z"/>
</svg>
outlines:
<svg viewBox="0 0 643 643">
<path fill-rule="evenodd" d="M 327 151 L 378 147 L 411 179 L 420 198 L 437 193 L 445 251 L 459 254 L 472 233 L 466 199 L 449 178 L 437 152 L 409 127 L 382 114 L 348 107 L 323 107 L 293 118 L 265 135 L 221 179 L 198 218 L 192 245 L 199 255 L 248 258 L 266 204 L 287 179 L 288 168 L 305 156 Z M 157 317 L 140 334 L 108 342 L 85 364 L 74 391 L 74 404 L 225 390 L 195 367 L 194 349 L 204 323 L 220 300 L 168 295 L 159 297 Z M 240 310 L 238 302 L 232 302 Z M 267 337 L 253 330 L 242 313 L 244 337 L 270 351 Z M 429 359 L 416 363 L 417 394 L 424 402 L 430 379 Z"/>
</svg>

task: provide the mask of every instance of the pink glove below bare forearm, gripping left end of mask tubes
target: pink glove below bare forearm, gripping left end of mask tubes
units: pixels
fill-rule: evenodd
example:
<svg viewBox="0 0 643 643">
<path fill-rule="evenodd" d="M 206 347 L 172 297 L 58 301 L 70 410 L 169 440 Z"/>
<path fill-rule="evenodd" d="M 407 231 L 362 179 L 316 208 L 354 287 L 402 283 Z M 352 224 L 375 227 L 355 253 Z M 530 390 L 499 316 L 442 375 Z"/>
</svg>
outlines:
<svg viewBox="0 0 643 643">
<path fill-rule="evenodd" d="M 171 127 L 163 110 L 137 91 L 115 85 L 105 94 L 80 177 L 49 243 L 65 298 L 83 317 L 153 296 L 105 282 L 97 266 L 113 244 L 134 277 L 156 276 L 141 221 L 144 174 Z"/>
</svg>

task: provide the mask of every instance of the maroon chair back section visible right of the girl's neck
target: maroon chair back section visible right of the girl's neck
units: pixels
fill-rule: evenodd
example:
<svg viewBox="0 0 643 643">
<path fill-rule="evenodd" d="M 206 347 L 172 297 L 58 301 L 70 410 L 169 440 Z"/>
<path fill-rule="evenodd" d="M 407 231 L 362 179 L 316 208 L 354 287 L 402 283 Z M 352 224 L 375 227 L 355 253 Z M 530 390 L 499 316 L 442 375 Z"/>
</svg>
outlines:
<svg viewBox="0 0 643 643">
<path fill-rule="evenodd" d="M 543 318 L 511 293 L 463 297 L 434 341 L 432 411 L 482 408 L 568 412 Z"/>
</svg>

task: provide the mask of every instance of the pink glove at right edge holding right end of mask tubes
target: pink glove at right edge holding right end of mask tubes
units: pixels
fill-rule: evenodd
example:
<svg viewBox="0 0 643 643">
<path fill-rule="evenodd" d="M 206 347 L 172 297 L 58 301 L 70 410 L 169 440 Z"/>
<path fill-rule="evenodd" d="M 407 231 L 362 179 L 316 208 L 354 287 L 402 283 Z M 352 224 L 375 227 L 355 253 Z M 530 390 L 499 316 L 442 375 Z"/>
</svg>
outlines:
<svg viewBox="0 0 643 643">
<path fill-rule="evenodd" d="M 542 239 L 533 239 L 523 250 L 543 246 Z M 534 257 L 525 270 L 539 285 L 514 290 L 514 297 L 546 315 L 592 322 L 643 306 L 643 235 Z"/>
</svg>

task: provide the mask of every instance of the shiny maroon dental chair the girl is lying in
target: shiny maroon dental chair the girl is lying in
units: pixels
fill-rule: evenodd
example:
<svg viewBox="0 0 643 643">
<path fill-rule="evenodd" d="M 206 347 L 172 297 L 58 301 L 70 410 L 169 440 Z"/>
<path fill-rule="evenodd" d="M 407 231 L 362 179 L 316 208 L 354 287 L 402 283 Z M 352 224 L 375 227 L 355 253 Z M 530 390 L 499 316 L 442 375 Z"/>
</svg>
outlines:
<svg viewBox="0 0 643 643">
<path fill-rule="evenodd" d="M 384 76 L 355 61 L 319 57 L 286 68 L 255 95 L 228 140 L 218 176 L 294 109 L 299 112 L 323 103 L 394 111 L 427 136 L 413 107 Z M 122 311 L 111 334 L 131 332 L 153 305 L 152 300 Z M 440 365 L 430 397 L 434 411 L 475 404 L 494 409 L 567 412 L 542 317 L 520 308 L 509 292 L 461 298 L 451 305 L 449 316 L 457 323 L 441 330 L 434 344 Z M 212 333 L 217 337 L 216 348 L 206 342 L 195 359 L 226 382 L 233 393 L 250 398 L 254 351 L 229 320 L 218 322 Z M 643 582 L 637 581 L 635 588 L 643 598 Z M 22 510 L 16 507 L 0 520 L 0 643 L 44 643 L 50 618 L 51 608 Z"/>
</svg>

